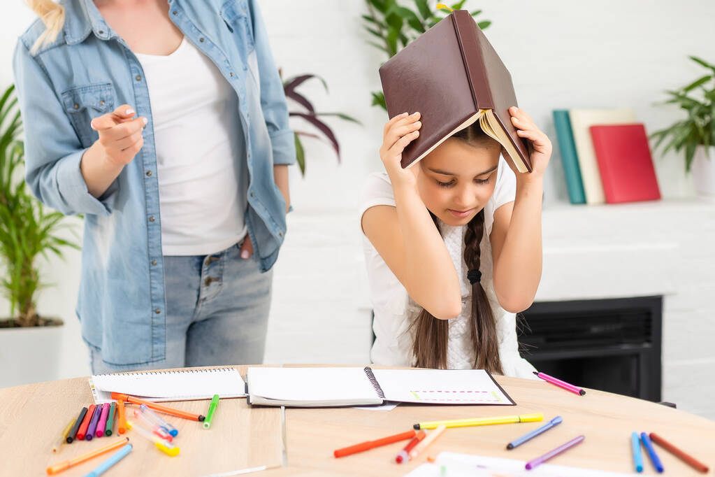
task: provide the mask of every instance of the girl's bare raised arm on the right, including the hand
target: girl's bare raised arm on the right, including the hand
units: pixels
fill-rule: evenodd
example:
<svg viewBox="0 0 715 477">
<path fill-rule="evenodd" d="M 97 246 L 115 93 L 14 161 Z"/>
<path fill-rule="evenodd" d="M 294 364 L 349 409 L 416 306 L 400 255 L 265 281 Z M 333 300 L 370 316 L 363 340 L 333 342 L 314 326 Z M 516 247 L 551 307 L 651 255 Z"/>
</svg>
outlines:
<svg viewBox="0 0 715 477">
<path fill-rule="evenodd" d="M 490 235 L 494 260 L 494 291 L 511 313 L 533 303 L 541 281 L 541 199 L 543 173 L 551 157 L 551 142 L 521 109 L 511 111 L 518 134 L 531 142 L 533 172 L 516 172 L 516 197 L 494 212 Z"/>
</svg>

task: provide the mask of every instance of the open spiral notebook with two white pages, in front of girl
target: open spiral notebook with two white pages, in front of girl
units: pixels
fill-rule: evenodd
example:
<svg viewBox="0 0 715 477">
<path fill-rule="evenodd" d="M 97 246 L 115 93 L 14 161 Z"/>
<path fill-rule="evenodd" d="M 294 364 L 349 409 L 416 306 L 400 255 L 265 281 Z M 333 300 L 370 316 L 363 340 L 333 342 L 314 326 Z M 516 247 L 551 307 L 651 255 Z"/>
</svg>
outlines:
<svg viewBox="0 0 715 477">
<path fill-rule="evenodd" d="M 516 405 L 485 370 L 248 368 L 246 388 L 248 403 L 257 405 Z"/>
</svg>

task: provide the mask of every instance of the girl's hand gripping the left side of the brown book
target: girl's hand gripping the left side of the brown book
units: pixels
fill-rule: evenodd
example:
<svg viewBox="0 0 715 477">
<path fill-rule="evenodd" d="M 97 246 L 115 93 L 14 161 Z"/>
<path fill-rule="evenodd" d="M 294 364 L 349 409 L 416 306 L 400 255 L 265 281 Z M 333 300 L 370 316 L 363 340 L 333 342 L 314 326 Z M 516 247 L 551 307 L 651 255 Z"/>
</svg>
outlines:
<svg viewBox="0 0 715 477">
<path fill-rule="evenodd" d="M 405 147 L 420 135 L 418 129 L 422 127 L 422 122 L 419 119 L 420 113 L 418 112 L 410 115 L 403 113 L 393 117 L 388 124 L 385 124 L 380 158 L 383 159 L 393 187 L 415 187 L 417 184 L 420 168 L 415 165 L 403 169 L 400 161 Z"/>
</svg>

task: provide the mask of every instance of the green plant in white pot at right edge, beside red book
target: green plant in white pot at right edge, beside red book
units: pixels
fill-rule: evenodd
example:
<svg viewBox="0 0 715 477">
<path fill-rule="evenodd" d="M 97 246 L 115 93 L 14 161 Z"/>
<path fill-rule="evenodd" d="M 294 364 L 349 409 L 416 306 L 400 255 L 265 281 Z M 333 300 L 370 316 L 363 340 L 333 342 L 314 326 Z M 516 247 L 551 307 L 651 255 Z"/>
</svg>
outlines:
<svg viewBox="0 0 715 477">
<path fill-rule="evenodd" d="M 677 104 L 688 116 L 666 129 L 651 134 L 658 139 L 654 149 L 669 139 L 663 150 L 685 152 L 685 170 L 693 172 L 693 180 L 700 195 L 715 196 L 715 65 L 704 59 L 689 56 L 708 70 L 707 74 L 685 87 L 666 91 L 671 99 L 663 104 Z"/>
</svg>

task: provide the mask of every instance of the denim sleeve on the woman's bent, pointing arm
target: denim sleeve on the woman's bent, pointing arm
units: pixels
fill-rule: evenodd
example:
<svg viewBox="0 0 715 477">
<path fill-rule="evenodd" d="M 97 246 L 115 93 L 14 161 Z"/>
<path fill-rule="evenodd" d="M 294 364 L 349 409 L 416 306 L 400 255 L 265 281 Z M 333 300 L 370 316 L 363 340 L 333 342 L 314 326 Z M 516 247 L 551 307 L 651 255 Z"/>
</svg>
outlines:
<svg viewBox="0 0 715 477">
<path fill-rule="evenodd" d="M 111 214 L 117 181 L 99 199 L 89 193 L 79 169 L 86 149 L 51 79 L 21 40 L 15 48 L 14 76 L 25 132 L 26 182 L 32 193 L 65 215 Z"/>
</svg>

